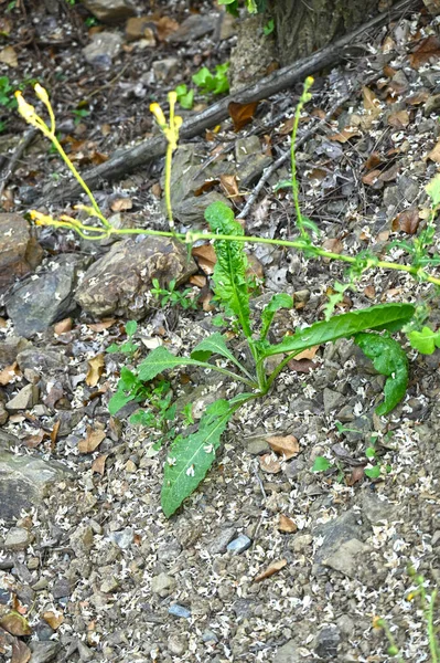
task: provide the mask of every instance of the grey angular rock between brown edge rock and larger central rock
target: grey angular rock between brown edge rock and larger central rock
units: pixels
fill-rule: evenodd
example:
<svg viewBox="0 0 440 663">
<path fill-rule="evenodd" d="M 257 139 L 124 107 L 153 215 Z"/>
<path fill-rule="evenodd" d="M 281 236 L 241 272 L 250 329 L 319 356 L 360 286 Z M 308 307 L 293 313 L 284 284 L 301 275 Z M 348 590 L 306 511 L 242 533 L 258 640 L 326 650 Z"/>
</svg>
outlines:
<svg viewBox="0 0 440 663">
<path fill-rule="evenodd" d="M 61 255 L 14 288 L 6 304 L 18 334 L 30 338 L 75 309 L 73 291 L 82 262 L 77 255 Z"/>
</svg>

